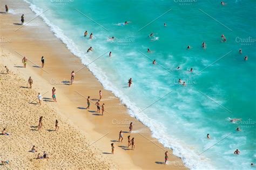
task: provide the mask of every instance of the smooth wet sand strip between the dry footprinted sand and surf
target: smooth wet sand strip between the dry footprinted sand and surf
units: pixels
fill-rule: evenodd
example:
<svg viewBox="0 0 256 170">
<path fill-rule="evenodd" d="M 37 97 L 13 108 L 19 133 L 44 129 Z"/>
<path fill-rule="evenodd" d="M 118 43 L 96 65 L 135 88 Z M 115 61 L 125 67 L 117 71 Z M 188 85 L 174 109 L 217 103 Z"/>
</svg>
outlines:
<svg viewBox="0 0 256 170">
<path fill-rule="evenodd" d="M 19 8 L 22 7 L 25 10 L 29 9 L 28 4 L 25 4 L 25 2 L 12 2 L 11 4 L 14 3 L 19 4 Z M 38 17 L 33 22 L 39 23 L 40 32 L 43 32 L 42 34 L 36 32 L 35 27 L 33 28 L 33 26 L 30 27 L 29 25 L 25 25 L 22 29 L 15 32 L 14 30 L 17 29 L 17 25 L 12 23 L 19 21 L 19 15 L 9 13 L 6 16 L 5 14 L 1 14 L 1 18 L 4 20 L 2 23 L 10 26 L 10 29 L 8 28 L 8 30 L 1 31 L 3 33 L 2 37 L 13 39 L 14 41 L 9 44 L 4 44 L 4 51 L 15 53 L 15 56 L 20 58 L 20 60 L 22 57 L 18 56 L 17 52 L 28 57 L 31 62 L 28 63 L 28 68 L 26 68 L 26 73 L 24 74 L 28 77 L 28 75 L 31 74 L 27 71 L 29 69 L 31 72 L 34 72 L 33 74 L 38 78 L 34 83 L 34 86 L 37 88 L 39 87 L 40 89 L 49 91 L 52 86 L 55 86 L 57 89 L 58 103 L 56 104 L 57 106 L 55 105 L 54 107 L 76 124 L 80 130 L 90 134 L 90 139 L 97 140 L 97 138 L 107 134 L 106 138 L 104 137 L 96 142 L 95 146 L 97 148 L 100 148 L 103 152 L 109 152 L 111 140 L 118 140 L 119 131 L 127 131 L 129 127 L 127 124 L 131 121 L 134 122 L 134 130 L 142 130 L 142 134 L 131 134 L 136 139 L 136 149 L 134 151 L 124 151 L 122 147 L 117 147 L 117 142 L 114 142 L 117 155 L 113 155 L 114 157 L 111 159 L 116 162 L 119 168 L 185 168 L 180 158 L 170 154 L 170 162 L 179 162 L 177 164 L 178 167 L 171 163 L 166 166 L 156 163 L 163 162 L 164 160 L 165 148 L 163 145 L 151 137 L 151 132 L 148 127 L 135 118 L 130 117 L 127 113 L 127 108 L 120 103 L 117 97 L 110 91 L 103 90 L 102 85 L 86 67 L 76 75 L 75 83 L 72 86 L 61 83 L 65 79 L 69 80 L 72 70 L 79 70 L 84 65 L 80 62 L 78 57 L 72 55 L 64 43 L 53 35 L 41 18 Z M 29 21 L 29 18 L 33 18 L 34 14 L 33 12 L 25 13 L 25 16 L 28 18 L 27 21 Z M 49 39 L 51 41 L 49 41 Z M 24 44 L 24 46 L 21 46 L 21 44 Z M 44 54 L 42 54 L 42 52 Z M 39 60 L 41 56 L 45 56 L 46 60 L 44 70 L 37 67 L 37 65 L 41 65 Z M 16 59 L 12 58 L 11 61 L 14 62 L 15 60 Z M 21 64 L 21 62 L 17 62 L 17 65 L 21 66 Z M 35 66 L 35 64 L 37 65 Z M 10 71 L 12 71 L 12 68 L 13 67 L 9 65 Z M 24 71 L 21 70 L 23 68 L 16 67 L 16 69 L 22 72 Z M 52 81 L 55 81 L 55 83 Z M 106 104 L 105 115 L 103 117 L 95 115 L 95 106 L 92 107 L 92 112 L 87 112 L 83 109 L 86 107 L 86 96 L 97 99 L 99 90 L 103 91 L 103 101 Z M 113 121 L 116 121 L 117 124 L 113 124 Z M 84 125 L 84 122 L 86 122 L 86 125 Z M 97 132 L 97 134 L 95 134 L 95 132 Z M 124 134 L 124 145 L 127 145 L 126 136 L 127 135 Z M 170 149 L 166 150 L 172 153 Z M 145 160 L 147 160 L 147 162 L 145 162 Z"/>
</svg>

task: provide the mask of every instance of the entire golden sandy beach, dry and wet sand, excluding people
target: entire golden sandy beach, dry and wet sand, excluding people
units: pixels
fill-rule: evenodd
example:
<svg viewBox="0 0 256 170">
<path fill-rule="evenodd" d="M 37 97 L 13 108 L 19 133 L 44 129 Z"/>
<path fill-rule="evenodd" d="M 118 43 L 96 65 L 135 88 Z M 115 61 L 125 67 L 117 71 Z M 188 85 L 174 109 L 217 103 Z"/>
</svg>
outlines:
<svg viewBox="0 0 256 170">
<path fill-rule="evenodd" d="M 29 5 L 21 0 L 4 0 L 17 15 L 3 13 L 1 6 L 1 97 L 0 127 L 10 135 L 0 135 L 1 160 L 9 160 L 7 168 L 67 168 L 67 169 L 186 169 L 172 150 L 164 148 L 151 137 L 149 128 L 130 117 L 127 108 L 103 86 L 74 56 Z M 17 25 L 24 13 L 27 25 Z M 39 25 L 39 26 L 38 26 Z M 26 68 L 22 58 L 28 58 Z M 44 69 L 41 57 L 45 58 Z M 4 66 L 10 73 L 6 74 Z M 69 84 L 71 71 L 78 71 L 73 85 Z M 29 77 L 32 89 L 27 88 Z M 57 103 L 51 99 L 55 87 Z M 96 101 L 102 90 L 105 113 L 98 114 Z M 43 94 L 42 105 L 37 94 Z M 91 108 L 86 110 L 86 98 Z M 42 130 L 37 131 L 39 117 L 43 116 Z M 59 131 L 55 132 L 55 120 Z M 133 122 L 133 133 L 129 124 Z M 124 131 L 123 142 L 118 142 L 119 131 Z M 1 130 L 2 131 L 2 130 Z M 135 139 L 135 149 L 127 148 L 127 136 Z M 114 143 L 114 154 L 111 143 Z M 29 150 L 35 145 L 38 152 Z M 37 160 L 37 153 L 46 151 L 49 159 Z M 164 165 L 165 151 L 169 162 Z"/>
</svg>

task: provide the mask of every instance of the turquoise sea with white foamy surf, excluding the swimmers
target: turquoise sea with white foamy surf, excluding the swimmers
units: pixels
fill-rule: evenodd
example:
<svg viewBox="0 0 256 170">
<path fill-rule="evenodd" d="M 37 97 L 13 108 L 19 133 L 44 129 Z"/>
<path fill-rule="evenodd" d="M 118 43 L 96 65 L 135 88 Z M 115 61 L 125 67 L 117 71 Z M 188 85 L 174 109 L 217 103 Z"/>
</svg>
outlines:
<svg viewBox="0 0 256 170">
<path fill-rule="evenodd" d="M 251 162 L 256 164 L 255 1 L 224 6 L 213 0 L 26 2 L 37 14 L 49 9 L 41 17 L 55 35 L 90 63 L 105 89 L 188 168 L 250 169 Z M 93 32 L 92 40 L 83 36 L 85 30 Z M 112 36 L 116 39 L 108 40 Z M 86 53 L 90 46 L 94 51 Z M 242 120 L 231 123 L 233 118 Z M 233 154 L 237 148 L 240 155 Z"/>
</svg>

